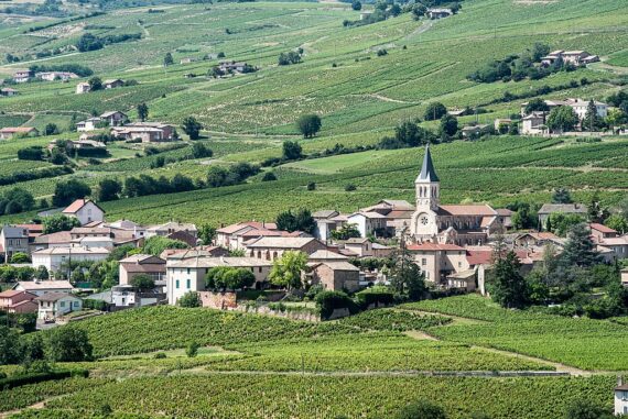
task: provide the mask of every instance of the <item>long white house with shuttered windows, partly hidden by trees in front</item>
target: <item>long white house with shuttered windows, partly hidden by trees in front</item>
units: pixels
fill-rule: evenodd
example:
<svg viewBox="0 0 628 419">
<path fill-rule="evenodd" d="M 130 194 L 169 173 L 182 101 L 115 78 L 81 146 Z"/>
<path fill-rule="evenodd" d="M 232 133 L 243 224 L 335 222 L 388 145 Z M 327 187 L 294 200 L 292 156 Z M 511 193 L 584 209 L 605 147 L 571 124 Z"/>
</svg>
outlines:
<svg viewBox="0 0 628 419">
<path fill-rule="evenodd" d="M 166 261 L 167 304 L 175 305 L 186 293 L 205 290 L 205 276 L 214 267 L 250 269 L 256 277 L 256 287 L 268 278 L 272 263 L 257 257 L 187 257 Z"/>
</svg>

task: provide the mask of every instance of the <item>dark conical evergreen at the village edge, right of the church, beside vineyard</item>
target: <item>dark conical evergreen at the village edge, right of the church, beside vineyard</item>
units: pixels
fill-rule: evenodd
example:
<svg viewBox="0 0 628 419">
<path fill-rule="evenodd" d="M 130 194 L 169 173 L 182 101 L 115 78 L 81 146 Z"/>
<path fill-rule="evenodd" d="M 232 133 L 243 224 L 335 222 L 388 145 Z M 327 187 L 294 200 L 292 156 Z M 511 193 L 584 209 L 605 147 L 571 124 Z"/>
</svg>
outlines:
<svg viewBox="0 0 628 419">
<path fill-rule="evenodd" d="M 494 301 L 506 308 L 522 308 L 528 302 L 526 279 L 519 272 L 521 263 L 512 251 L 495 262 L 495 269 L 489 283 Z"/>
</svg>

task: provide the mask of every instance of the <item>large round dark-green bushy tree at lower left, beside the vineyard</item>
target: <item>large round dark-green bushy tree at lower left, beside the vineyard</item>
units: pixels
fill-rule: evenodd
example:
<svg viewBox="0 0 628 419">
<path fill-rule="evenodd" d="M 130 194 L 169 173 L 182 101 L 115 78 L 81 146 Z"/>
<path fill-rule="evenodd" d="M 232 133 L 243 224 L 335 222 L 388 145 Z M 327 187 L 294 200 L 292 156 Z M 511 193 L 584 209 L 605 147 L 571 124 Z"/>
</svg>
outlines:
<svg viewBox="0 0 628 419">
<path fill-rule="evenodd" d="M 90 361 L 93 346 L 83 329 L 62 327 L 46 334 L 48 357 L 54 362 Z"/>
</svg>

